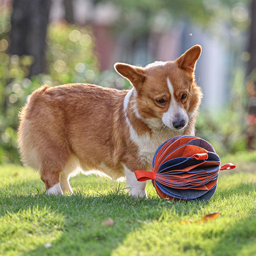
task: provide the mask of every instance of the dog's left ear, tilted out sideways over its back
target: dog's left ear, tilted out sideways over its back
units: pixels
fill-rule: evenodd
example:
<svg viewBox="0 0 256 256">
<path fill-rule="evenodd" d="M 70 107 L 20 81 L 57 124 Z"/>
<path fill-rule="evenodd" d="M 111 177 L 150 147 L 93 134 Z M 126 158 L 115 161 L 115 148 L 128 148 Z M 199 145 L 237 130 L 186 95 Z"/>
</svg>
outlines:
<svg viewBox="0 0 256 256">
<path fill-rule="evenodd" d="M 114 64 L 114 69 L 121 76 L 128 79 L 136 89 L 141 89 L 143 81 L 146 78 L 145 68 L 117 62 Z"/>
</svg>

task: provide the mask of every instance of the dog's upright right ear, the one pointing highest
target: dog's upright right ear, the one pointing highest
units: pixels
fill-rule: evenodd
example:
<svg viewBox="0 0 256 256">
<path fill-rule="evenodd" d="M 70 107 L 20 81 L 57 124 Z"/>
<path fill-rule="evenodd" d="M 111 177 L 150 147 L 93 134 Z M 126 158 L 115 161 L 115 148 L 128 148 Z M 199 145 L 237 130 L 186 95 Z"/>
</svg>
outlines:
<svg viewBox="0 0 256 256">
<path fill-rule="evenodd" d="M 196 62 L 200 57 L 202 52 L 202 47 L 196 44 L 196 46 L 188 49 L 185 54 L 182 54 L 180 58 L 176 60 L 178 67 L 182 68 L 182 70 L 186 70 L 189 73 L 193 73 L 196 67 Z"/>
</svg>

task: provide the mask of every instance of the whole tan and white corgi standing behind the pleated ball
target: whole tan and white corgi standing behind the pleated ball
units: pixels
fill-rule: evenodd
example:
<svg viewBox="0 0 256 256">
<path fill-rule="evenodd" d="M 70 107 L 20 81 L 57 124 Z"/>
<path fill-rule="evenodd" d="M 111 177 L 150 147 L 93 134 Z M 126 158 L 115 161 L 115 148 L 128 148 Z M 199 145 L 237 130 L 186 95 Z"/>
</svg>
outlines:
<svg viewBox="0 0 256 256">
<path fill-rule="evenodd" d="M 18 147 L 26 166 L 38 169 L 47 194 L 73 193 L 78 170 L 126 177 L 132 196 L 146 196 L 135 170 L 150 170 L 161 143 L 194 135 L 202 92 L 194 81 L 201 46 L 177 60 L 145 67 L 116 63 L 132 84 L 116 90 L 91 84 L 42 86 L 20 111 Z"/>
</svg>

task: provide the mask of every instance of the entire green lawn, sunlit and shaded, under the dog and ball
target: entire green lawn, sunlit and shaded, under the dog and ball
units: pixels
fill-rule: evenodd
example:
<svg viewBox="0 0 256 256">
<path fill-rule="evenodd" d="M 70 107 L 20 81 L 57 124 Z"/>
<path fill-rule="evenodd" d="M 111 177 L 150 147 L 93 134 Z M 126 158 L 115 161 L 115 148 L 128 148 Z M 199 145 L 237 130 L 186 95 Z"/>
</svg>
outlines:
<svg viewBox="0 0 256 256">
<path fill-rule="evenodd" d="M 256 255 L 256 153 L 224 161 L 238 167 L 220 173 L 213 198 L 188 203 L 159 199 L 150 182 L 148 199 L 131 198 L 124 183 L 83 175 L 73 196 L 46 196 L 37 172 L 1 166 L 0 255 Z"/>
</svg>

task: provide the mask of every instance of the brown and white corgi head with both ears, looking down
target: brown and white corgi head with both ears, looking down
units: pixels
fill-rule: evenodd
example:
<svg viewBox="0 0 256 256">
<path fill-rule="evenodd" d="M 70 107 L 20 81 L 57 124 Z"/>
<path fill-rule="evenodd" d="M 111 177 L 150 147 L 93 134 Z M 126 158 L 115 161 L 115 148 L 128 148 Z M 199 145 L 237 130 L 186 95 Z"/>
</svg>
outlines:
<svg viewBox="0 0 256 256">
<path fill-rule="evenodd" d="M 150 126 L 184 130 L 196 114 L 202 92 L 194 82 L 201 46 L 191 47 L 174 62 L 154 62 L 145 68 L 116 63 L 116 71 L 135 88 L 137 113 Z"/>
</svg>

